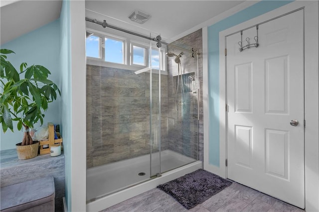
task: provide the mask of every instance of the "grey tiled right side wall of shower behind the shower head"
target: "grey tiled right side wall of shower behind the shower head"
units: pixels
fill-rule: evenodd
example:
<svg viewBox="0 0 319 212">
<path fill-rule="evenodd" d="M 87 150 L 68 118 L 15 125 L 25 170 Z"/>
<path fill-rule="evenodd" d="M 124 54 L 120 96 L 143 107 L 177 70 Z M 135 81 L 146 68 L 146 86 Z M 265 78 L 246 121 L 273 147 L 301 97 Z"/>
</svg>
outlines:
<svg viewBox="0 0 319 212">
<path fill-rule="evenodd" d="M 172 44 L 189 50 L 194 48 L 199 53 L 202 53 L 202 30 L 199 29 Z M 168 47 L 167 51 L 176 55 L 181 52 L 172 47 Z M 176 111 L 176 83 L 173 81 L 173 76 L 176 77 L 178 74 L 178 65 L 174 62 L 174 58 L 168 58 L 168 148 L 194 159 L 197 159 L 198 156 L 199 160 L 203 161 L 203 58 L 202 54 L 200 54 L 198 75 L 197 56 L 192 58 L 191 53 L 184 52 L 180 61 L 182 73 L 195 71 L 196 89 L 199 89 L 199 94 L 185 93 L 186 106 L 182 108 L 178 105 Z M 199 95 L 199 108 L 197 95 Z M 180 100 L 181 96 L 181 94 L 177 94 L 177 99 Z M 197 110 L 199 110 L 199 121 L 197 120 Z"/>
</svg>

